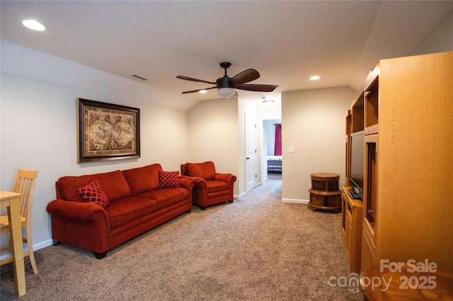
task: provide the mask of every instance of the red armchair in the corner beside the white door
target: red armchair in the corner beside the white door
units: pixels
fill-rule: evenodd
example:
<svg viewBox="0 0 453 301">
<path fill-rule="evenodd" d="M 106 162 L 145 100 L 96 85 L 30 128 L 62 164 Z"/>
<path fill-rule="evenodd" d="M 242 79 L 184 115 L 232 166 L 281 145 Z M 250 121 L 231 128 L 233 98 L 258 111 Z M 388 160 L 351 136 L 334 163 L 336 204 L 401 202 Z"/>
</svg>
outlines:
<svg viewBox="0 0 453 301">
<path fill-rule="evenodd" d="M 192 201 L 205 210 L 206 206 L 229 201 L 233 203 L 233 188 L 236 176 L 217 173 L 214 162 L 181 164 L 181 177 L 194 182 Z"/>
</svg>

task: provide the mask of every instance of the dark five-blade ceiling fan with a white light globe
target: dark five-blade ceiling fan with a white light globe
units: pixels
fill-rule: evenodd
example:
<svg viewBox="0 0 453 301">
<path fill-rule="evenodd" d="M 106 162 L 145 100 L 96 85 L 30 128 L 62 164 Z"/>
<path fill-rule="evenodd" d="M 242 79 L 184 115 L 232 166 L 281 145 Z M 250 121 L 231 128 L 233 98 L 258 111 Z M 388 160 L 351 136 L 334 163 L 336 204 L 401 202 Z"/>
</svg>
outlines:
<svg viewBox="0 0 453 301">
<path fill-rule="evenodd" d="M 231 66 L 231 63 L 224 61 L 220 63 L 220 66 L 225 69 L 225 75 L 221 78 L 217 78 L 217 81 L 203 81 L 202 79 L 191 78 L 188 76 L 176 76 L 180 79 L 185 79 L 186 81 L 200 81 L 201 83 L 211 83 L 215 85 L 211 88 L 204 88 L 198 90 L 190 90 L 185 91 L 185 93 L 195 93 L 200 92 L 201 90 L 210 90 L 217 88 L 217 93 L 224 98 L 231 98 L 236 92 L 235 89 L 239 90 L 248 90 L 248 91 L 257 91 L 257 92 L 272 92 L 278 85 L 261 85 L 261 84 L 253 84 L 249 83 L 250 81 L 255 81 L 256 78 L 260 77 L 260 73 L 255 69 L 247 69 L 246 71 L 242 71 L 241 73 L 236 74 L 232 78 L 226 75 L 226 69 Z"/>
</svg>

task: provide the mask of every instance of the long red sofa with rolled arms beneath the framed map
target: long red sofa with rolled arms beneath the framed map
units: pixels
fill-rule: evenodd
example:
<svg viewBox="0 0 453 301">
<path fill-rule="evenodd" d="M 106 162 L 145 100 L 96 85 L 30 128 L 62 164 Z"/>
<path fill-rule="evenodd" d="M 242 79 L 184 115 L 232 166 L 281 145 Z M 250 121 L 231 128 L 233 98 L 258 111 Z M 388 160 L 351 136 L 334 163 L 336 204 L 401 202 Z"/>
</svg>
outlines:
<svg viewBox="0 0 453 301">
<path fill-rule="evenodd" d="M 96 175 L 61 177 L 55 184 L 57 199 L 47 205 L 54 244 L 87 249 L 102 259 L 109 249 L 189 213 L 193 182 L 176 172 L 178 187 L 159 188 L 159 176 L 164 174 L 161 165 L 153 164 Z M 110 202 L 105 208 L 87 202 L 77 191 L 94 180 Z"/>
</svg>

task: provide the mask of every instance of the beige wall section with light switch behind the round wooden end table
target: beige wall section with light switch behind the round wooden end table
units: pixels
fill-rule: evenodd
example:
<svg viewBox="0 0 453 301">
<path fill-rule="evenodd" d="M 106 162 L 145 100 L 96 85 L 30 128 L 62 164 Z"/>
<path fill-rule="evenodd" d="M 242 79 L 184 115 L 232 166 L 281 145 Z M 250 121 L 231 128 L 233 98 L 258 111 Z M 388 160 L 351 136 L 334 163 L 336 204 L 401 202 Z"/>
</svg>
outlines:
<svg viewBox="0 0 453 301">
<path fill-rule="evenodd" d="M 344 185 L 345 117 L 356 93 L 349 87 L 282 93 L 282 201 L 309 200 L 314 172 L 337 173 Z"/>
</svg>

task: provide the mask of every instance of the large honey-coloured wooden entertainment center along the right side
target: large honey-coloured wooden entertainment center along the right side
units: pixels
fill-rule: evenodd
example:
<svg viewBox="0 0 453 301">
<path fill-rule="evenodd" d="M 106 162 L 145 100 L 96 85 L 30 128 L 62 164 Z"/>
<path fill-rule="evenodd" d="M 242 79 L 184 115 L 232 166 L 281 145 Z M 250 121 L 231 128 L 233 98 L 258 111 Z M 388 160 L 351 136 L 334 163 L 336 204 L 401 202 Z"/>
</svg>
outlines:
<svg viewBox="0 0 453 301">
<path fill-rule="evenodd" d="M 453 272 L 453 52 L 383 59 L 346 117 L 342 235 L 351 271 L 428 259 Z M 350 137 L 365 132 L 363 197 Z"/>
</svg>

